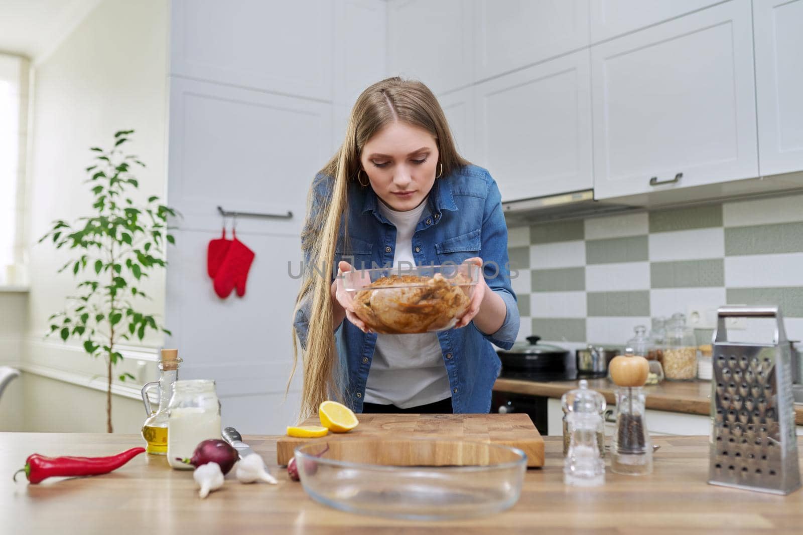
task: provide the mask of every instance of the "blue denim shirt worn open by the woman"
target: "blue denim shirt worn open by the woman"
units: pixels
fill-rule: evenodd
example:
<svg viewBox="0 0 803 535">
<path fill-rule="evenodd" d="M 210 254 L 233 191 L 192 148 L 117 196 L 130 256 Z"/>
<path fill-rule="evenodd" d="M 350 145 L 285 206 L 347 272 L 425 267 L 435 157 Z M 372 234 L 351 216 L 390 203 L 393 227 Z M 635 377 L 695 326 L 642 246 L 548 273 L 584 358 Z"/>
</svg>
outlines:
<svg viewBox="0 0 803 535">
<path fill-rule="evenodd" d="M 316 198 L 328 197 L 332 180 L 316 176 L 314 188 Z M 341 231 L 334 265 L 340 260 L 349 261 L 357 269 L 371 267 L 372 263 L 392 265 L 396 227 L 379 212 L 381 201 L 372 188 L 349 189 L 348 217 L 344 218 L 348 220 L 349 239 L 344 245 Z M 495 333 L 484 334 L 474 322 L 460 329 L 438 332 L 453 411 L 487 413 L 491 408 L 491 389 L 501 367 L 491 343 L 510 349 L 519 332 L 519 310 L 510 283 L 507 225 L 499 188 L 485 169 L 467 165 L 436 179 L 426 202 L 413 235 L 416 264 L 437 265 L 446 261 L 459 264 L 470 257 L 481 257 L 486 264 L 491 263 L 483 268 L 487 286 L 503 299 L 507 308 L 504 322 Z M 315 209 L 313 204 L 312 210 Z M 302 306 L 293 324 L 302 347 L 306 346 L 308 310 L 309 306 Z M 335 338 L 345 403 L 361 412 L 377 334 L 365 334 L 344 319 Z"/>
</svg>

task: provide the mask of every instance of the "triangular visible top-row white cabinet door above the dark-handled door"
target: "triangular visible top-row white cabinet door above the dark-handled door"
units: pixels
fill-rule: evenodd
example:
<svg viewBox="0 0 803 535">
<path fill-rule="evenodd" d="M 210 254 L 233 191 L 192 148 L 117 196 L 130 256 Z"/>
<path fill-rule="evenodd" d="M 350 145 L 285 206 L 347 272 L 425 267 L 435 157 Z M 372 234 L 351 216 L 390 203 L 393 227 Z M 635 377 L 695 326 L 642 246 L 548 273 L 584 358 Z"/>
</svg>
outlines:
<svg viewBox="0 0 803 535">
<path fill-rule="evenodd" d="M 640 30 L 711 6 L 719 0 L 593 0 L 591 43 Z"/>
</svg>

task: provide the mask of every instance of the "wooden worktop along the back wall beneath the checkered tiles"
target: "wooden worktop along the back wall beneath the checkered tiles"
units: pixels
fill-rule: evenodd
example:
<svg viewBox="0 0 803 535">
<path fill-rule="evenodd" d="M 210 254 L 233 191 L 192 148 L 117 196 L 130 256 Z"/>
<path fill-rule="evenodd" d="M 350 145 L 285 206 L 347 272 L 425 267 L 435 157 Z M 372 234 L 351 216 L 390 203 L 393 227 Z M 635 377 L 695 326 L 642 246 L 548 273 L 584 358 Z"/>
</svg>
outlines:
<svg viewBox="0 0 803 535">
<path fill-rule="evenodd" d="M 577 381 L 524 381 L 521 379 L 496 379 L 494 390 L 516 394 L 543 395 L 560 399 L 565 392 L 577 388 Z M 605 395 L 605 401 L 615 403 L 613 388 L 608 379 L 589 379 L 589 388 Z M 658 411 L 686 412 L 687 414 L 707 415 L 711 411 L 711 382 L 664 381 L 651 387 L 644 387 L 647 408 Z M 795 423 L 803 425 L 803 405 L 795 405 Z"/>
</svg>

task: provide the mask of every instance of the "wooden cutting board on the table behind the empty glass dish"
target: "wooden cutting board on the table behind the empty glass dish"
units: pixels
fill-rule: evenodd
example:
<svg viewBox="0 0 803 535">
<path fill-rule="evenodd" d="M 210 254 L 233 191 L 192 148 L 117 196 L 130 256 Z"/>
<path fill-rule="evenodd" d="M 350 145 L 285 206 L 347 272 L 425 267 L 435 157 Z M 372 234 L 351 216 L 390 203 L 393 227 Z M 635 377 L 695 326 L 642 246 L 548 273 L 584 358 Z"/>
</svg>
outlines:
<svg viewBox="0 0 803 535">
<path fill-rule="evenodd" d="M 528 467 L 544 466 L 544 439 L 526 414 L 360 414 L 360 425 L 348 433 L 329 433 L 316 439 L 284 436 L 276 445 L 276 460 L 287 465 L 299 446 L 312 442 L 337 447 L 346 440 L 363 440 L 365 462 L 410 465 L 487 464 L 487 457 L 465 443 L 491 442 L 519 448 Z M 320 425 L 317 416 L 303 425 Z M 421 439 L 430 439 L 430 442 Z M 431 440 L 436 439 L 436 440 Z"/>
</svg>

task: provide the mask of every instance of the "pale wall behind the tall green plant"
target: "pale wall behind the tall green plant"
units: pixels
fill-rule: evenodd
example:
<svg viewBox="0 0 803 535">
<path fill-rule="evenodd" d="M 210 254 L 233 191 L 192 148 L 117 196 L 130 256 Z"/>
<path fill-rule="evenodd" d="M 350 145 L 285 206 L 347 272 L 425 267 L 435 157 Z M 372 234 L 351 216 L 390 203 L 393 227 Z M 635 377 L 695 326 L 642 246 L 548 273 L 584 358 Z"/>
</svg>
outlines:
<svg viewBox="0 0 803 535">
<path fill-rule="evenodd" d="M 97 389 L 103 361 L 91 360 L 73 344 L 43 340 L 47 317 L 61 310 L 75 288 L 71 274 L 56 275 L 69 253 L 34 244 L 53 219 L 72 221 L 91 213 L 91 193 L 83 184 L 84 168 L 92 161 L 88 148 L 109 147 L 117 130 L 137 131 L 129 148 L 148 164 L 137 172 L 141 197 L 164 196 L 168 7 L 162 0 L 104 0 L 47 58 L 35 61 L 27 183 L 31 293 L 23 365 L 30 372 L 23 381 L 27 431 L 104 429 L 104 399 Z M 154 298 L 142 308 L 164 314 L 164 275 L 154 274 L 142 286 Z M 150 380 L 162 343 L 160 336 L 149 335 L 141 347 L 124 351 L 143 365 L 126 359 L 118 370 Z M 133 409 L 137 388 L 117 390 L 116 431 L 131 432 L 145 417 Z"/>
</svg>

